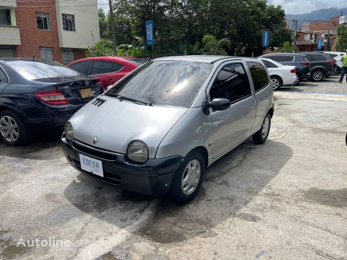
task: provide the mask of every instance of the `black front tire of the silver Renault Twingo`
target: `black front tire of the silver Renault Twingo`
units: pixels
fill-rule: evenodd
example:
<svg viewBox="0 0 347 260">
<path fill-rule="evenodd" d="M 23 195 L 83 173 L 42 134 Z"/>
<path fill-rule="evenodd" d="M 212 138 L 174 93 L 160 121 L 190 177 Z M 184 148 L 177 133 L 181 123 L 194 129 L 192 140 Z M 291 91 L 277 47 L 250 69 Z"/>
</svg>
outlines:
<svg viewBox="0 0 347 260">
<path fill-rule="evenodd" d="M 190 174 L 189 174 L 189 164 L 191 165 L 190 169 L 192 169 Z M 192 167 L 192 165 L 194 166 Z M 194 168 L 195 168 L 195 171 L 194 171 Z M 197 169 L 199 168 L 200 168 L 200 171 L 197 171 Z M 198 177 L 197 177 L 197 172 L 199 175 Z M 203 156 L 200 153 L 194 152 L 194 151 L 187 154 L 187 156 L 184 158 L 184 161 L 178 167 L 178 170 L 175 173 L 174 179 L 172 179 L 172 183 L 171 183 L 171 187 L 169 191 L 169 195 L 171 199 L 178 204 L 185 204 L 191 201 L 192 199 L 194 199 L 194 197 L 196 196 L 197 192 L 199 191 L 201 187 L 204 173 L 205 173 L 205 161 Z"/>
</svg>

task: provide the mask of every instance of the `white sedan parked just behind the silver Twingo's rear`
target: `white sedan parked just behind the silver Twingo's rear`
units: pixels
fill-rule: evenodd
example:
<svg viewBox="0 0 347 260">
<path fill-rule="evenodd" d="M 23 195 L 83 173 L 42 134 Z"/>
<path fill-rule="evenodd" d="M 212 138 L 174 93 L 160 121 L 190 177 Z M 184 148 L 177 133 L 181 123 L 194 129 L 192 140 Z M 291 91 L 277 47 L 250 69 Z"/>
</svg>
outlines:
<svg viewBox="0 0 347 260">
<path fill-rule="evenodd" d="M 283 65 L 277 61 L 260 58 L 269 71 L 273 90 L 291 85 L 296 81 L 295 66 Z"/>
</svg>

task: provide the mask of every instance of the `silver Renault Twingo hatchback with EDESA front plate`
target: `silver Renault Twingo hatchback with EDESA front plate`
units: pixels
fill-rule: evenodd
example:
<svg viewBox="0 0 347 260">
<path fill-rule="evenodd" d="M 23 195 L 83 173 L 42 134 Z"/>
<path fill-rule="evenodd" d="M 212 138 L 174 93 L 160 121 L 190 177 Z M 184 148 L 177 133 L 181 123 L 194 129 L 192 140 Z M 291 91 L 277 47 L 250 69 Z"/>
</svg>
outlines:
<svg viewBox="0 0 347 260">
<path fill-rule="evenodd" d="M 71 166 L 88 176 L 186 203 L 213 162 L 250 136 L 265 142 L 273 111 L 260 59 L 158 58 L 74 114 L 61 144 Z"/>
</svg>

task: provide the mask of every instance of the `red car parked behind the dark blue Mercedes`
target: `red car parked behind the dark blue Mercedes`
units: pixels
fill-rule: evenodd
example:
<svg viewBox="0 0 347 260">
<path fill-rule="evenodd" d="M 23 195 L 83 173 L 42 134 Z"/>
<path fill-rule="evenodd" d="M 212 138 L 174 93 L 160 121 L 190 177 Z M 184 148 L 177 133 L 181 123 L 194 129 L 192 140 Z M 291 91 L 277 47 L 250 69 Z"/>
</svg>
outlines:
<svg viewBox="0 0 347 260">
<path fill-rule="evenodd" d="M 76 60 L 67 66 L 81 74 L 101 79 L 106 89 L 146 62 L 135 57 L 105 56 Z"/>
</svg>

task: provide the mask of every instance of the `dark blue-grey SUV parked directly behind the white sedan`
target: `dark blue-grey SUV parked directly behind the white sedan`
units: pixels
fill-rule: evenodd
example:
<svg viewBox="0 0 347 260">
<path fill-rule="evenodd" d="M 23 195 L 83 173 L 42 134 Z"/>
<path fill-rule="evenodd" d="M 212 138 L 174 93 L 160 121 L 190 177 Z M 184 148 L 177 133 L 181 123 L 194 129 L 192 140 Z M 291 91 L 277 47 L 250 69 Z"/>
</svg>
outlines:
<svg viewBox="0 0 347 260">
<path fill-rule="evenodd" d="M 269 53 L 259 58 L 274 60 L 283 65 L 295 66 L 296 81 L 293 84 L 294 86 L 297 86 L 301 80 L 308 79 L 311 76 L 310 62 L 305 59 L 305 55 L 298 53 Z"/>
</svg>

